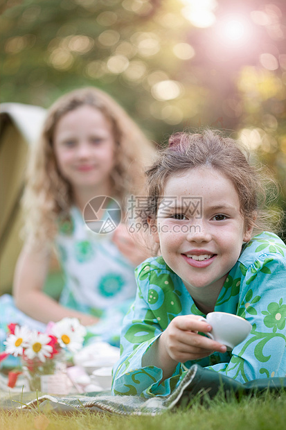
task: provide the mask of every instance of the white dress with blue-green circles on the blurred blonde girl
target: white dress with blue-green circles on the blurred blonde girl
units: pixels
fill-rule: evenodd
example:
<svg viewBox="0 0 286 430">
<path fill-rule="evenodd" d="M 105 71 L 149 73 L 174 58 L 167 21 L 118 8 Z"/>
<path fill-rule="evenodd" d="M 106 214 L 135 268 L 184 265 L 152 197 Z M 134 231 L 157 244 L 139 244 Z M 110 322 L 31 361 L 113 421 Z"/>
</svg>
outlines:
<svg viewBox="0 0 286 430">
<path fill-rule="evenodd" d="M 111 235 L 89 230 L 79 209 L 72 207 L 69 216 L 60 218 L 55 246 L 65 277 L 60 303 L 100 318 L 98 324 L 87 327 L 87 341 L 100 337 L 119 346 L 122 320 L 134 301 L 136 280 L 134 266 L 111 241 Z M 17 309 L 9 294 L 1 296 L 0 309 L 0 351 L 10 322 L 41 332 L 46 329 L 43 322 Z M 3 364 L 10 362 L 12 357 Z"/>
</svg>

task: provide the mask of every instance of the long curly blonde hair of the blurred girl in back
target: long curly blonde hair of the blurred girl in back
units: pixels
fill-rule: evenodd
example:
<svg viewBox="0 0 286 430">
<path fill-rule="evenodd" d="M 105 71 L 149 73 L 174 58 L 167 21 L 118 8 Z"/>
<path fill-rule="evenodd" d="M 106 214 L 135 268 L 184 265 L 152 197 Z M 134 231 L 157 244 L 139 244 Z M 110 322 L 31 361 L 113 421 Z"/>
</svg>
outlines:
<svg viewBox="0 0 286 430">
<path fill-rule="evenodd" d="M 47 112 L 42 134 L 31 147 L 22 199 L 24 235 L 41 246 L 57 233 L 57 218 L 69 214 L 71 185 L 61 175 L 53 149 L 55 126 L 64 114 L 82 105 L 100 110 L 110 121 L 116 142 L 116 164 L 111 172 L 113 196 L 123 203 L 129 193 L 140 193 L 145 167 L 152 162 L 154 146 L 111 96 L 100 89 L 75 89 L 60 97 Z"/>
</svg>

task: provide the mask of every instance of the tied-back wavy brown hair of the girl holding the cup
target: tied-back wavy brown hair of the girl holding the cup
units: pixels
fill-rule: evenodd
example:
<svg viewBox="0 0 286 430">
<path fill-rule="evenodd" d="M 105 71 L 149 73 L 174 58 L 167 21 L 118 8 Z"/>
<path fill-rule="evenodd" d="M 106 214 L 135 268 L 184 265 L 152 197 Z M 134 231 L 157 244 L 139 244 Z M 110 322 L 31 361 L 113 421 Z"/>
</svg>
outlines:
<svg viewBox="0 0 286 430">
<path fill-rule="evenodd" d="M 269 207 L 278 195 L 278 185 L 262 166 L 252 166 L 249 153 L 237 141 L 210 129 L 202 133 L 178 132 L 169 139 L 153 166 L 147 171 L 149 207 L 142 221 L 155 219 L 168 178 L 189 169 L 209 167 L 231 180 L 240 200 L 245 225 L 253 225 L 253 235 L 262 230 L 278 232 L 281 212 Z"/>
</svg>

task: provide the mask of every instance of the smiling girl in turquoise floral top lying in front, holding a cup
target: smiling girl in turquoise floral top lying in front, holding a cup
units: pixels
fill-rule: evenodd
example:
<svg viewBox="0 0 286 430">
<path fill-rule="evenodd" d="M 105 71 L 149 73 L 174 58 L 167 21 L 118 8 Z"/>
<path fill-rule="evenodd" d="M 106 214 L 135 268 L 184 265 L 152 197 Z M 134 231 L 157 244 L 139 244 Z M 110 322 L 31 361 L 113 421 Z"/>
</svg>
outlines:
<svg viewBox="0 0 286 430">
<path fill-rule="evenodd" d="M 142 222 L 161 256 L 136 269 L 113 393 L 169 395 L 194 363 L 240 382 L 284 377 L 286 246 L 265 231 L 256 169 L 206 130 L 170 137 L 147 175 Z M 226 351 L 206 336 L 211 311 L 245 318 L 251 333 Z"/>
</svg>

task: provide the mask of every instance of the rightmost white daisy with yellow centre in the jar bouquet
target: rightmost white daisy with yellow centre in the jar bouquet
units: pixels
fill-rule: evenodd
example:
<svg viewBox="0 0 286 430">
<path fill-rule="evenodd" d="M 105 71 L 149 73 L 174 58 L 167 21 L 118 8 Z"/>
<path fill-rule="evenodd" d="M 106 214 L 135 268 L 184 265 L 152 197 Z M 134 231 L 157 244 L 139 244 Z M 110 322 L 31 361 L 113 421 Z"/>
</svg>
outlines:
<svg viewBox="0 0 286 430">
<path fill-rule="evenodd" d="M 76 352 L 82 347 L 84 336 L 87 333 L 77 318 L 63 318 L 56 322 L 52 334 L 57 337 L 60 347 Z"/>
</svg>

